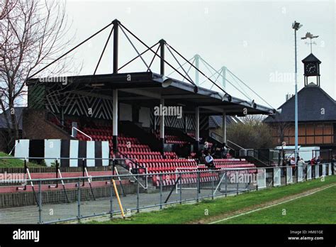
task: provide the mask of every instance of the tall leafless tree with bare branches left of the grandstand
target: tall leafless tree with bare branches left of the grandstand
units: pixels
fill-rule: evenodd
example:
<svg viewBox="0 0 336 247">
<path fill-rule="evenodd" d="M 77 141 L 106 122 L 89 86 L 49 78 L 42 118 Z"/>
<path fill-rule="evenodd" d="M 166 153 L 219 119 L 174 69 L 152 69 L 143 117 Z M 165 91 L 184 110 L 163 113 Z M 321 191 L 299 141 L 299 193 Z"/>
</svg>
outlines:
<svg viewBox="0 0 336 247">
<path fill-rule="evenodd" d="M 1 6 L 2 7 L 2 6 Z M 26 81 L 47 65 L 69 44 L 65 4 L 62 1 L 7 0 L 0 22 L 0 107 L 13 145 L 19 138 L 15 106 L 26 104 Z M 44 71 L 45 75 L 66 72 L 65 60 Z"/>
</svg>

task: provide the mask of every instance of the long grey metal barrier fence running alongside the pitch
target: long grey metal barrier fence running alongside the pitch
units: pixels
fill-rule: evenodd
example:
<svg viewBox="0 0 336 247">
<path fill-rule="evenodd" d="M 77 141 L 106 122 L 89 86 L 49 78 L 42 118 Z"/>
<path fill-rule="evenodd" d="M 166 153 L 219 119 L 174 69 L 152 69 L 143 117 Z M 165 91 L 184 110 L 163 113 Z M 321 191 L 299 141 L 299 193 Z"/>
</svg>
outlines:
<svg viewBox="0 0 336 247">
<path fill-rule="evenodd" d="M 26 192 L 0 193 L 0 202 L 3 202 L 0 224 L 51 224 L 102 215 L 113 218 L 122 211 L 128 216 L 131 212 L 162 209 L 169 204 L 198 202 L 312 180 L 333 175 L 334 170 L 331 163 L 324 163 L 220 170 L 179 168 L 161 173 L 28 179 Z M 141 187 L 145 180 L 149 181 L 146 190 Z M 21 187 L 16 180 L 0 182 L 0 191 L 6 187 Z"/>
</svg>

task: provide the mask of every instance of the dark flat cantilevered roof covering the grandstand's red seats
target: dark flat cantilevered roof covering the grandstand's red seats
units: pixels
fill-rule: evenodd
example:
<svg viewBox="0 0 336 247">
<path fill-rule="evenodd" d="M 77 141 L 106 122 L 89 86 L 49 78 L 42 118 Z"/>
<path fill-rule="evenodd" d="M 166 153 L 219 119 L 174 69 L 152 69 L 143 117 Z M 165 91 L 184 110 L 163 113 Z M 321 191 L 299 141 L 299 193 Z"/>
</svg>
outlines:
<svg viewBox="0 0 336 247">
<path fill-rule="evenodd" d="M 132 78 L 129 81 L 128 78 Z M 170 81 L 164 85 L 164 80 Z M 45 81 L 45 80 L 44 80 Z M 159 99 L 164 99 L 164 104 L 184 104 L 185 111 L 194 111 L 196 106 L 200 107 L 199 112 L 203 115 L 221 115 L 223 111 L 230 116 L 244 116 L 243 111 L 247 109 L 249 114 L 272 114 L 274 109 L 262 104 L 251 105 L 246 100 L 237 97 L 221 94 L 221 92 L 195 87 L 191 83 L 179 79 L 163 77 L 153 72 L 130 72 L 106 75 L 81 75 L 67 77 L 67 84 L 40 82 L 40 79 L 28 81 L 28 105 L 33 103 L 29 94 L 34 85 L 48 87 L 49 90 L 61 93 L 81 92 L 86 95 L 98 97 L 111 97 L 112 89 L 118 89 L 118 101 L 127 104 L 133 102 L 139 106 L 157 106 Z M 31 94 L 30 94 L 31 95 Z M 37 94 L 41 97 L 40 94 Z M 33 101 L 35 101 L 34 99 Z"/>
</svg>

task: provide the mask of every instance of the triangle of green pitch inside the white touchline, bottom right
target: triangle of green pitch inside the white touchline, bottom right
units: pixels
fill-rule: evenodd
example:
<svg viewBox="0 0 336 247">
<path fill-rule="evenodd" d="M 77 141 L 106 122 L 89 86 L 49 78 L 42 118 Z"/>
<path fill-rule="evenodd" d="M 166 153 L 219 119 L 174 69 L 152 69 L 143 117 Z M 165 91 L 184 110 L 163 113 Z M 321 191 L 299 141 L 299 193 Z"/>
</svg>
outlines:
<svg viewBox="0 0 336 247">
<path fill-rule="evenodd" d="M 336 186 L 218 224 L 336 224 Z"/>
</svg>

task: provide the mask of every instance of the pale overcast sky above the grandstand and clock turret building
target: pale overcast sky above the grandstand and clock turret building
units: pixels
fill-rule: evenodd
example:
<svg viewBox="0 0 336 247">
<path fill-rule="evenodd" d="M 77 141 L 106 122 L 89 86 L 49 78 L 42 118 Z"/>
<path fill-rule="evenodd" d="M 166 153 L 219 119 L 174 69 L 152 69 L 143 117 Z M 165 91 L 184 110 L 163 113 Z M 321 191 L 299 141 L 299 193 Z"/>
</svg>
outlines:
<svg viewBox="0 0 336 247">
<path fill-rule="evenodd" d="M 321 87 L 336 99 L 336 11 L 335 1 L 67 1 L 66 11 L 72 23 L 67 35 L 76 45 L 89 35 L 118 18 L 147 45 L 154 45 L 164 38 L 188 60 L 201 55 L 216 70 L 227 67 L 254 92 L 228 72 L 225 90 L 235 97 L 254 99 L 257 104 L 279 107 L 286 94 L 294 93 L 294 32 L 293 21 L 303 24 L 298 30 L 298 89 L 303 87 L 301 60 L 310 54 L 309 45 L 301 37 L 309 31 L 319 35 L 314 41 L 313 54 L 320 65 Z M 74 63 L 81 64 L 81 75 L 94 72 L 103 45 L 111 29 L 106 29 L 74 53 Z M 119 67 L 137 55 L 128 40 L 119 31 Z M 139 52 L 145 46 L 128 35 Z M 68 37 L 65 37 L 68 38 Z M 69 46 L 71 48 L 71 45 Z M 112 72 L 112 42 L 97 74 Z M 148 54 L 148 55 L 147 55 Z M 167 60 L 179 67 L 166 50 Z M 146 53 L 144 59 L 150 61 Z M 180 63 L 183 60 L 179 58 Z M 149 62 L 147 62 L 148 64 Z M 188 70 L 185 65 L 184 69 Z M 137 60 L 121 72 L 145 71 L 147 67 Z M 200 70 L 211 75 L 205 65 Z M 155 60 L 153 72 L 159 72 Z M 181 71 L 181 70 L 180 70 Z M 166 74 L 172 70 L 167 67 Z M 195 72 L 190 70 L 191 78 Z M 176 73 L 171 75 L 181 79 Z M 215 77 L 211 77 L 213 80 Z M 203 82 L 203 78 L 200 82 Z M 313 79 L 310 79 L 313 81 Z M 230 84 L 232 83 L 232 84 Z M 221 84 L 221 80 L 218 81 Z M 211 87 L 204 82 L 203 87 Z M 236 88 L 245 90 L 245 95 Z M 215 87 L 213 87 L 215 90 Z M 244 91 L 242 91 L 244 92 Z"/>
</svg>

